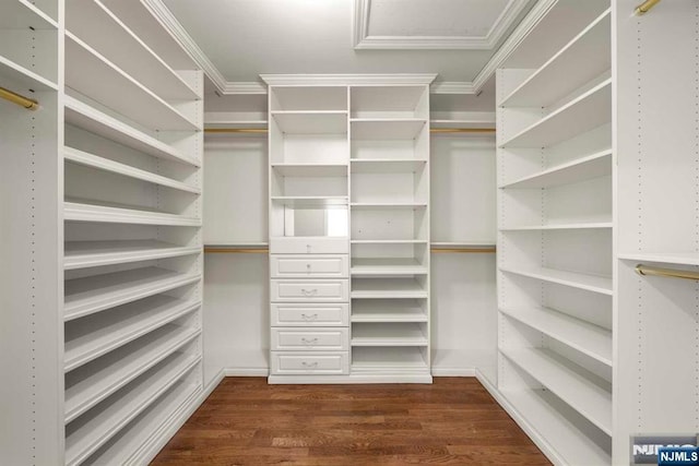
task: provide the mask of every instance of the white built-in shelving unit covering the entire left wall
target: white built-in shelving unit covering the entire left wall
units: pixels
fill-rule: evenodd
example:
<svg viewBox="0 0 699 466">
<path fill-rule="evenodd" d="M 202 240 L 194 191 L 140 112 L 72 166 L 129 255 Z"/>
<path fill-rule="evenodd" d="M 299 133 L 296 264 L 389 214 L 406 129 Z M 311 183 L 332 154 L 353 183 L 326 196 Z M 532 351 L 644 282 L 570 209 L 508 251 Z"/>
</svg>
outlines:
<svg viewBox="0 0 699 466">
<path fill-rule="evenodd" d="M 3 365 L 3 461 L 145 463 L 202 393 L 203 74 L 145 2 L 0 17 L 0 86 L 39 101 L 0 104 L 17 200 L 1 339 L 28 358 Z"/>
</svg>

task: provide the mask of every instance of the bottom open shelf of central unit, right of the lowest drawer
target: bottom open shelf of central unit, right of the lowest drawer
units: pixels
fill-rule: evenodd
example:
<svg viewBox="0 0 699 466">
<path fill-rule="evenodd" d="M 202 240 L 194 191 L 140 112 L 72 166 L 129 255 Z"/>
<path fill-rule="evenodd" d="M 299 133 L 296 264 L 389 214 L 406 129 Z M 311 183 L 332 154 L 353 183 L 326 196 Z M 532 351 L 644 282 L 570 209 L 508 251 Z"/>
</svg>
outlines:
<svg viewBox="0 0 699 466">
<path fill-rule="evenodd" d="M 356 347 L 352 349 L 352 373 L 427 370 L 423 347 Z"/>
</svg>

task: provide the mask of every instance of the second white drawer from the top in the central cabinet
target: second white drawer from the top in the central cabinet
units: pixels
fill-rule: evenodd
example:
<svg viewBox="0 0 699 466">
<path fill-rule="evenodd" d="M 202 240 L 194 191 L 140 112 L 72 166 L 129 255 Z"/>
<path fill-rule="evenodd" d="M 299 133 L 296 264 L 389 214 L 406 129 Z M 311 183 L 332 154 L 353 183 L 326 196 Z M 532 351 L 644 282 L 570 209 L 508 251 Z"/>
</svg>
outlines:
<svg viewBox="0 0 699 466">
<path fill-rule="evenodd" d="M 270 273 L 274 278 L 350 276 L 348 255 L 292 255 L 272 254 Z"/>
</svg>

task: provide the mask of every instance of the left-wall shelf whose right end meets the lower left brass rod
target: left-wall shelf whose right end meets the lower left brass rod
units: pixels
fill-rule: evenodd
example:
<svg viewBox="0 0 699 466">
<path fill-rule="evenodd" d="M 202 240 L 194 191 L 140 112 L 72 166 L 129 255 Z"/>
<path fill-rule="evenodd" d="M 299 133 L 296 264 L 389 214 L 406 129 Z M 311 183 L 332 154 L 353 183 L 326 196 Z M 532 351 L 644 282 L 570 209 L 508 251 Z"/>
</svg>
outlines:
<svg viewBox="0 0 699 466">
<path fill-rule="evenodd" d="M 66 270 L 96 267 L 199 254 L 200 246 L 177 246 L 156 240 L 68 241 L 64 247 Z"/>
</svg>

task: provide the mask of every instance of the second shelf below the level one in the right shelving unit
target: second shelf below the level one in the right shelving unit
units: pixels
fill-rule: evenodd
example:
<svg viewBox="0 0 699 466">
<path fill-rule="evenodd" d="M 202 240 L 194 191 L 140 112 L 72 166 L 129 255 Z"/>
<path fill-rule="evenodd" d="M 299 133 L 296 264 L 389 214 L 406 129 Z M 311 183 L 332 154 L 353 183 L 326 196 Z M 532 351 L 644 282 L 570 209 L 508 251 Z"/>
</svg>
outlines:
<svg viewBox="0 0 699 466">
<path fill-rule="evenodd" d="M 608 367 L 612 332 L 549 308 L 500 309 L 503 314 L 555 338 Z"/>
</svg>

